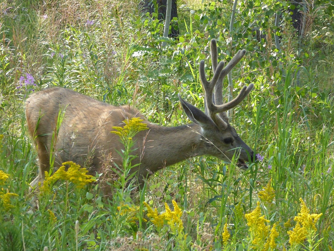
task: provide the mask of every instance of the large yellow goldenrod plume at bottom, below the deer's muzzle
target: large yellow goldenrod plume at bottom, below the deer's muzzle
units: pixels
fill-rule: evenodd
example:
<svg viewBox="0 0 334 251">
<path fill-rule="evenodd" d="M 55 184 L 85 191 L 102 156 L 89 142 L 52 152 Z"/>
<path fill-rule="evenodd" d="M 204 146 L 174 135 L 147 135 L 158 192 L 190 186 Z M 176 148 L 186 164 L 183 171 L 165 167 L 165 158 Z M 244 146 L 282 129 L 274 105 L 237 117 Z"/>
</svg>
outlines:
<svg viewBox="0 0 334 251">
<path fill-rule="evenodd" d="M 265 243 L 266 238 L 268 237 L 268 226 L 266 222 L 269 222 L 265 219 L 265 216 L 261 216 L 260 202 L 258 201 L 258 206 L 249 214 L 245 214 L 247 220 L 247 226 L 249 227 L 249 232 L 253 236 L 252 243 L 254 245 L 262 245 Z"/>
</svg>

